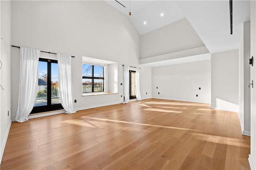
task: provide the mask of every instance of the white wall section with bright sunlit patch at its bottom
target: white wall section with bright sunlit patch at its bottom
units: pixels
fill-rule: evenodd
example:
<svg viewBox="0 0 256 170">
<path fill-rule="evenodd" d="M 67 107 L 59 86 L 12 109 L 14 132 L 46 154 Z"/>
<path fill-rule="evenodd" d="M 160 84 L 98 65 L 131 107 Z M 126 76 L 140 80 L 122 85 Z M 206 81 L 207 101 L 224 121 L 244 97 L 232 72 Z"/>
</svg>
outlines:
<svg viewBox="0 0 256 170">
<path fill-rule="evenodd" d="M 212 109 L 238 112 L 238 50 L 211 54 Z"/>
</svg>

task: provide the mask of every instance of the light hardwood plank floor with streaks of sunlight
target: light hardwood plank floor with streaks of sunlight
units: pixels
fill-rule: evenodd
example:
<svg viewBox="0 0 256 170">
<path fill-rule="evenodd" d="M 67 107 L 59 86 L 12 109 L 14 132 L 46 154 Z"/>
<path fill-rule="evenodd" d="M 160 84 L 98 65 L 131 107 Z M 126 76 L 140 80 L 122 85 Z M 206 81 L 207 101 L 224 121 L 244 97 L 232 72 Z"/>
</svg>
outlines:
<svg viewBox="0 0 256 170">
<path fill-rule="evenodd" d="M 10 128 L 1 169 L 250 169 L 237 113 L 162 99 L 61 114 Z"/>
</svg>

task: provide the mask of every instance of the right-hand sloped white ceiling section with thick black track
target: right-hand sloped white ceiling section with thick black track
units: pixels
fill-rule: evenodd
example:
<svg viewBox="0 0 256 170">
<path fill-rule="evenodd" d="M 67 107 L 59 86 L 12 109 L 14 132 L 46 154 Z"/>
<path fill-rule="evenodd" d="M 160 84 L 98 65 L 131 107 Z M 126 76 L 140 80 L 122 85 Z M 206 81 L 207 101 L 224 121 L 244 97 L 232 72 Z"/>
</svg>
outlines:
<svg viewBox="0 0 256 170">
<path fill-rule="evenodd" d="M 233 0 L 230 35 L 229 1 L 177 1 L 210 53 L 238 49 L 244 22 L 250 21 L 250 1 Z"/>
</svg>

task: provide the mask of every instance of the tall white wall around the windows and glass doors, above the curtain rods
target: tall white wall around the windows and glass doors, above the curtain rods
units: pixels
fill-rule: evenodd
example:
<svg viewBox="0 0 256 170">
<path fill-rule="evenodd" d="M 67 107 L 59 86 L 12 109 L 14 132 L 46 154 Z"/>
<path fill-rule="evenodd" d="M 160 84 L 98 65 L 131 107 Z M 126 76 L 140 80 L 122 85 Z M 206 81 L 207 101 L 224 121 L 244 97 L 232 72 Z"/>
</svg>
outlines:
<svg viewBox="0 0 256 170">
<path fill-rule="evenodd" d="M 104 1 L 12 1 L 12 44 L 75 56 L 72 58 L 75 109 L 122 103 L 122 64 L 139 65 L 137 30 L 129 16 Z M 118 63 L 119 94 L 82 96 L 82 56 Z M 15 114 L 19 57 L 19 49 L 12 48 L 12 113 Z"/>
</svg>

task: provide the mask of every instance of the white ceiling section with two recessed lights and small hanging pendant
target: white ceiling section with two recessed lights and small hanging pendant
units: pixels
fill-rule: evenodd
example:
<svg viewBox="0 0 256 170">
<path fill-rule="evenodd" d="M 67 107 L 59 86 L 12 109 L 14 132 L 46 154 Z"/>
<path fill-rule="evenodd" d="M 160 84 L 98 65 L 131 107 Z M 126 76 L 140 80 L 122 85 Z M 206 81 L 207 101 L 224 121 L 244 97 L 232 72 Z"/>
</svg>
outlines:
<svg viewBox="0 0 256 170">
<path fill-rule="evenodd" d="M 178 4 L 172 0 L 118 0 L 126 8 L 115 0 L 106 2 L 127 16 L 131 11 L 132 16 L 129 17 L 140 35 L 186 17 Z"/>
</svg>

